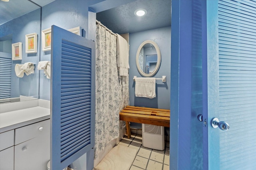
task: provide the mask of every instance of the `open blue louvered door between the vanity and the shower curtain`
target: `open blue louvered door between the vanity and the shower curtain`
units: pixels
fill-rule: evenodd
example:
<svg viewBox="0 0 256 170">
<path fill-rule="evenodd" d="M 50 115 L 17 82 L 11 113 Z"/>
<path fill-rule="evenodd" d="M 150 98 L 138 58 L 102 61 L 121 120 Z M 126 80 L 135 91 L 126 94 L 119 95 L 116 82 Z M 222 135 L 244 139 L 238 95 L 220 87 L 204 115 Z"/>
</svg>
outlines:
<svg viewBox="0 0 256 170">
<path fill-rule="evenodd" d="M 94 147 L 95 43 L 53 25 L 51 47 L 51 169 L 61 170 Z"/>
</svg>

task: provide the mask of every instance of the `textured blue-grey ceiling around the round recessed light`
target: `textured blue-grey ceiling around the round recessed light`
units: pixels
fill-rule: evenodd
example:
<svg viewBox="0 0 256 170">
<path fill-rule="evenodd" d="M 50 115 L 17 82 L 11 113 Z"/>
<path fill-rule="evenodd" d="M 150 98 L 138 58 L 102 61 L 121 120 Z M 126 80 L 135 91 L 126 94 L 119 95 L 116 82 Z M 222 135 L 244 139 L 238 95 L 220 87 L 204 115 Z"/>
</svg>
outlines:
<svg viewBox="0 0 256 170">
<path fill-rule="evenodd" d="M 146 16 L 135 16 L 138 8 L 146 9 Z M 98 12 L 96 19 L 118 34 L 168 26 L 171 25 L 171 0 L 137 0 Z"/>
</svg>

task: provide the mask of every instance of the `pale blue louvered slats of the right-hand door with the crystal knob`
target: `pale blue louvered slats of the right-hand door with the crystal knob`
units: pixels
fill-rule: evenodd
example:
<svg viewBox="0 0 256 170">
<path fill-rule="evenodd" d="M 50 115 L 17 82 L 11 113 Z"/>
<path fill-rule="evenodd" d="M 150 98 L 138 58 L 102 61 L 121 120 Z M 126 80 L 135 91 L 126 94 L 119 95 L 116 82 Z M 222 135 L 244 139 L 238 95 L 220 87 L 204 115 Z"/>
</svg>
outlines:
<svg viewBox="0 0 256 170">
<path fill-rule="evenodd" d="M 219 0 L 220 169 L 256 168 L 256 1 Z"/>
</svg>

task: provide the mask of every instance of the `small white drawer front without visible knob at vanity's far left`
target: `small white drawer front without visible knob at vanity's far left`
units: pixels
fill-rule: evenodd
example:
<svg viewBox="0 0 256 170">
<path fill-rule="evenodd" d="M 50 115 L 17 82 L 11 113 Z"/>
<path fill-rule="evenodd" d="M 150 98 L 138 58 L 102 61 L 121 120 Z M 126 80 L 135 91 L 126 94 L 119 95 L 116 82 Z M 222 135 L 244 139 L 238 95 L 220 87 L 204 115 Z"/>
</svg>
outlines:
<svg viewBox="0 0 256 170">
<path fill-rule="evenodd" d="M 0 133 L 0 150 L 14 145 L 14 130 Z"/>
</svg>

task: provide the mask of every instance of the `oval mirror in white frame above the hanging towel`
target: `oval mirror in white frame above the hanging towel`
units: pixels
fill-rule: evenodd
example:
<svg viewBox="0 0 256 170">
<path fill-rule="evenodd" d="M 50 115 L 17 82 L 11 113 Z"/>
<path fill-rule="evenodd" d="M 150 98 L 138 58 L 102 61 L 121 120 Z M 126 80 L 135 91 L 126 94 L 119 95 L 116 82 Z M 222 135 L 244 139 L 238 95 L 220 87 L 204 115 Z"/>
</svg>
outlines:
<svg viewBox="0 0 256 170">
<path fill-rule="evenodd" d="M 140 74 L 151 77 L 158 71 L 161 53 L 158 45 L 151 40 L 144 41 L 136 54 L 136 66 Z"/>
</svg>

